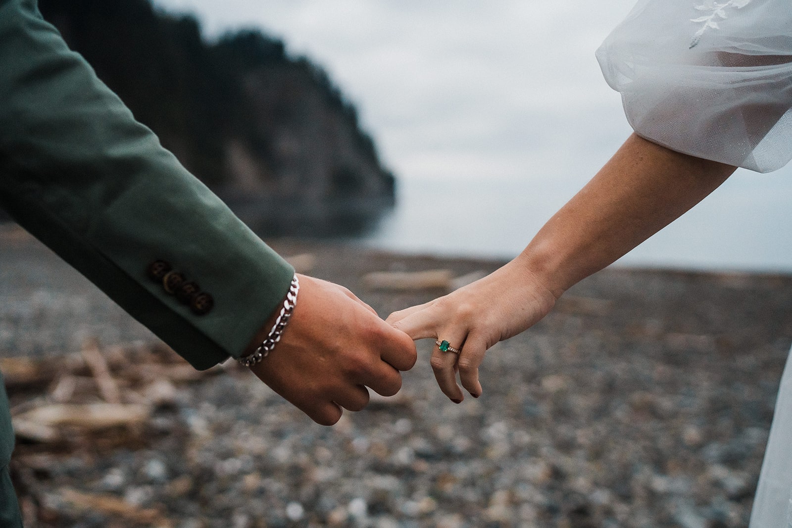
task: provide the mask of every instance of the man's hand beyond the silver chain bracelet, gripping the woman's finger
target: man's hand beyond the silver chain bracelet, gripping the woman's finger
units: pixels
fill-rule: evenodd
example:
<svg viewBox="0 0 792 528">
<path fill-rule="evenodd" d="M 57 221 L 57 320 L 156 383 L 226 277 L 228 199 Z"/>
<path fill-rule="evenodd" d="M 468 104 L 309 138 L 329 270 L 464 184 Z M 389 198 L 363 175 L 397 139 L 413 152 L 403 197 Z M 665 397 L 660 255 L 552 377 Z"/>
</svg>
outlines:
<svg viewBox="0 0 792 528">
<path fill-rule="evenodd" d="M 360 411 L 371 387 L 383 396 L 402 388 L 399 370 L 417 358 L 413 340 L 337 284 L 299 275 L 297 306 L 274 350 L 250 370 L 322 425 L 341 408 Z M 253 348 L 272 324 L 262 327 Z"/>
</svg>

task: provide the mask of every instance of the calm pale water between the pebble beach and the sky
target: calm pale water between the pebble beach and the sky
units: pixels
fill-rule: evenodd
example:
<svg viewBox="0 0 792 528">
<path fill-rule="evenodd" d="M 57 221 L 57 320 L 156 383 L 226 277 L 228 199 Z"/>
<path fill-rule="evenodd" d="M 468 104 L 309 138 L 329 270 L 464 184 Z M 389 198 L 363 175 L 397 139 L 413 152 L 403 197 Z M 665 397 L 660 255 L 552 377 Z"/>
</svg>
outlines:
<svg viewBox="0 0 792 528">
<path fill-rule="evenodd" d="M 784 173 L 786 171 L 786 174 Z M 365 245 L 407 253 L 511 257 L 581 181 L 399 181 L 398 206 Z M 792 272 L 792 171 L 741 171 L 620 265 Z"/>
</svg>

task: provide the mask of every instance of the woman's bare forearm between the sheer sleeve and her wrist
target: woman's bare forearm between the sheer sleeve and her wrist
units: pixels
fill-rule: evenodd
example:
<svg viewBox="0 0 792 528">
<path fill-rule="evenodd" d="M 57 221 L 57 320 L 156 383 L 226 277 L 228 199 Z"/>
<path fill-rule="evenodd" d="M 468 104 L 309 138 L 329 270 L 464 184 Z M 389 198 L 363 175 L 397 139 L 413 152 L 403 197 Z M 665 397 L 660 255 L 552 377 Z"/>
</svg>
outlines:
<svg viewBox="0 0 792 528">
<path fill-rule="evenodd" d="M 735 169 L 631 135 L 516 260 L 558 298 L 679 218 Z"/>
</svg>

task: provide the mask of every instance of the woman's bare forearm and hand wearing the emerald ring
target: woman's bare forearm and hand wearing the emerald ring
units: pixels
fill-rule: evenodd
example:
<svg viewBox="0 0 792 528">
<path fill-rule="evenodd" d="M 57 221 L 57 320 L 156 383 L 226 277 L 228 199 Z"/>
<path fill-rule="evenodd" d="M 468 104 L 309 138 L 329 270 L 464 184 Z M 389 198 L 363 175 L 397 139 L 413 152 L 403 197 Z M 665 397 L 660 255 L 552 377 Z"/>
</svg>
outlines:
<svg viewBox="0 0 792 528">
<path fill-rule="evenodd" d="M 413 339 L 462 348 L 432 353 L 452 401 L 463 400 L 455 370 L 474 397 L 487 348 L 534 325 L 561 294 L 657 233 L 718 188 L 736 169 L 680 154 L 631 135 L 514 260 L 491 275 L 388 321 Z"/>
</svg>

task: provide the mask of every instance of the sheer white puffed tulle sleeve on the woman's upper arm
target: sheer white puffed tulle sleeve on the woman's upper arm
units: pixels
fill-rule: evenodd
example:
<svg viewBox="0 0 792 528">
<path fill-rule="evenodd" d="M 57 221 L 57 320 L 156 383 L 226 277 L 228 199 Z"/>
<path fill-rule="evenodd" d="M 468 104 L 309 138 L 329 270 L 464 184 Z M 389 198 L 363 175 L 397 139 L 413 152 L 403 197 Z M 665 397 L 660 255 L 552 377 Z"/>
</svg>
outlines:
<svg viewBox="0 0 792 528">
<path fill-rule="evenodd" d="M 792 159 L 790 0 L 640 0 L 596 56 L 645 139 L 760 173 Z"/>
</svg>

